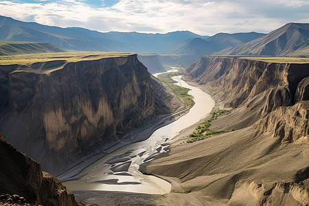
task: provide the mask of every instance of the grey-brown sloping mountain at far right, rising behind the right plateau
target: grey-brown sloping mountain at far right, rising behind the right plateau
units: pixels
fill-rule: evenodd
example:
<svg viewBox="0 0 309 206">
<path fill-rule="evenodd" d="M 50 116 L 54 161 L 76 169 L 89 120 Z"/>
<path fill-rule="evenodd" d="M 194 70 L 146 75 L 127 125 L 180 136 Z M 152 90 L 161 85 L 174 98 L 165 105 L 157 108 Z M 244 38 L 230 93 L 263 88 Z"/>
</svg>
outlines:
<svg viewBox="0 0 309 206">
<path fill-rule="evenodd" d="M 309 23 L 288 23 L 253 41 L 231 47 L 217 54 L 309 56 Z"/>
</svg>

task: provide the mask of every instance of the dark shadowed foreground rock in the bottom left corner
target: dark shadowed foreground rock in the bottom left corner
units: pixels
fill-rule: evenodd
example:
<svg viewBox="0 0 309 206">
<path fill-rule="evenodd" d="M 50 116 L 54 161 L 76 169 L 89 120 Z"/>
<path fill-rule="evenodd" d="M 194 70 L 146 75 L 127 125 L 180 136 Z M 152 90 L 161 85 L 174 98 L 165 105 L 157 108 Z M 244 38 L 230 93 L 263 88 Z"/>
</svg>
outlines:
<svg viewBox="0 0 309 206">
<path fill-rule="evenodd" d="M 22 203 L 30 205 L 78 206 L 59 179 L 42 172 L 41 165 L 16 150 L 1 132 L 0 153 L 0 164 L 5 168 L 0 170 L 0 194 L 19 196 Z"/>
</svg>

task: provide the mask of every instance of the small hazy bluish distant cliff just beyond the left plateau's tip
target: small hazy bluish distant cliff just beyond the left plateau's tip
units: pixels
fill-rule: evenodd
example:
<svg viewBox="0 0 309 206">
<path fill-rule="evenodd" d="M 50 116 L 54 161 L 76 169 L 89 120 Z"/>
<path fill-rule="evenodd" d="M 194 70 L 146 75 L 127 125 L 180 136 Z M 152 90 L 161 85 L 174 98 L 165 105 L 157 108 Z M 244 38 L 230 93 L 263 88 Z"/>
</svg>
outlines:
<svg viewBox="0 0 309 206">
<path fill-rule="evenodd" d="M 150 73 L 166 71 L 159 60 L 159 55 L 157 54 L 139 54 L 137 55 L 137 58 L 145 65 L 145 67 L 147 67 Z"/>
</svg>

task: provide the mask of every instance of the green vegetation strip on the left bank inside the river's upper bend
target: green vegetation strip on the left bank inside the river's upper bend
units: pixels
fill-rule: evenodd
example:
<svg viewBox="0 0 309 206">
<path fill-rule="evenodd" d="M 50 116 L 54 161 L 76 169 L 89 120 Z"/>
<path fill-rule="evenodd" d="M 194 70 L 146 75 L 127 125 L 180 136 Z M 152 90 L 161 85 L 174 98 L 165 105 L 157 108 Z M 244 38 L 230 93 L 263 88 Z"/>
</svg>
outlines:
<svg viewBox="0 0 309 206">
<path fill-rule="evenodd" d="M 188 94 L 190 89 L 175 85 L 174 83 L 176 83 L 176 81 L 172 80 L 173 76 L 181 76 L 183 73 L 185 73 L 185 69 L 178 69 L 176 72 L 161 73 L 158 78 L 161 82 L 164 82 L 168 85 L 168 87 L 170 87 L 170 89 L 172 89 L 172 92 L 183 101 L 185 106 L 192 107 L 194 105 L 194 101 L 192 95 Z"/>
</svg>

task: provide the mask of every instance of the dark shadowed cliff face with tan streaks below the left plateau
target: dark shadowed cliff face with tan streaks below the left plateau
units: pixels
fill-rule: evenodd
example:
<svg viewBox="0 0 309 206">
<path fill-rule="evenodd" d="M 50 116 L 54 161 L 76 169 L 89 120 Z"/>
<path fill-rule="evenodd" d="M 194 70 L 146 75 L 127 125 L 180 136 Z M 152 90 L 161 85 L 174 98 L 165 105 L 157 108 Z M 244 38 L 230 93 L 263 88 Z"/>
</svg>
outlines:
<svg viewBox="0 0 309 206">
<path fill-rule="evenodd" d="M 0 66 L 0 127 L 56 174 L 71 157 L 116 144 L 154 115 L 153 89 L 136 55 Z"/>
</svg>

